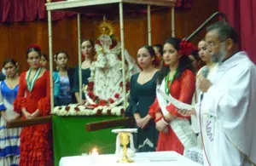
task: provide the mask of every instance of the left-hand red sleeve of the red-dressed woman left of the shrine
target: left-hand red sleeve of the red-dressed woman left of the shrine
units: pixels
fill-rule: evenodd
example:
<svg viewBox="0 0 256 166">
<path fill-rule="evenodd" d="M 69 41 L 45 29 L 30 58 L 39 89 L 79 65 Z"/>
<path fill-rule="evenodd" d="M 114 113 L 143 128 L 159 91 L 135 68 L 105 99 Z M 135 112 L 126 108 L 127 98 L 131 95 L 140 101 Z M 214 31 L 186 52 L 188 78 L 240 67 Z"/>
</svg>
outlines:
<svg viewBox="0 0 256 166">
<path fill-rule="evenodd" d="M 17 97 L 14 101 L 14 110 L 17 113 L 21 113 L 22 108 L 26 108 L 26 98 L 25 98 L 25 91 L 26 91 L 26 72 L 23 72 L 20 75 L 20 82 L 19 82 L 19 89 Z"/>
</svg>

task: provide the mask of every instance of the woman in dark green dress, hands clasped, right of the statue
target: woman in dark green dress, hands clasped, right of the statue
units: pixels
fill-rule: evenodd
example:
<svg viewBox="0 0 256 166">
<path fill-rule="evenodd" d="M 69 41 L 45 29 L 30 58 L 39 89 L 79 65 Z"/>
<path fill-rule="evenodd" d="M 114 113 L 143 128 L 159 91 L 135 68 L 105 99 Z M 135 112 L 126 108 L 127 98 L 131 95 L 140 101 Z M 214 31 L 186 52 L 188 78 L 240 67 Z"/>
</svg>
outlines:
<svg viewBox="0 0 256 166">
<path fill-rule="evenodd" d="M 158 132 L 154 122 L 148 116 L 149 106 L 154 102 L 156 77 L 158 70 L 154 67 L 155 54 L 150 46 L 138 49 L 137 61 L 143 69 L 131 77 L 129 110 L 136 121 L 138 133 L 135 135 L 137 152 L 154 152 Z"/>
</svg>

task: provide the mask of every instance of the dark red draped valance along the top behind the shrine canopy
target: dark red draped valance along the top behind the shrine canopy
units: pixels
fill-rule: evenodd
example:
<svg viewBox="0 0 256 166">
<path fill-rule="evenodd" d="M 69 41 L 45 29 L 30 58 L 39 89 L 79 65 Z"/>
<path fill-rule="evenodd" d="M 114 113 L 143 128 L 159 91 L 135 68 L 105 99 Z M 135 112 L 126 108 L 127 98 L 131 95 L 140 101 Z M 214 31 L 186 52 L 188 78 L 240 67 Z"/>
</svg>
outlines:
<svg viewBox="0 0 256 166">
<path fill-rule="evenodd" d="M 59 2 L 63 0 L 52 0 Z M 155 0 L 157 1 L 157 0 Z M 190 9 L 193 0 L 177 0 L 177 9 Z M 1 0 L 0 24 L 47 20 L 46 0 Z M 53 11 L 52 20 L 61 20 L 73 16 L 74 12 Z M 89 14 L 91 16 L 91 14 Z M 93 15 L 93 14 L 92 14 Z"/>
</svg>

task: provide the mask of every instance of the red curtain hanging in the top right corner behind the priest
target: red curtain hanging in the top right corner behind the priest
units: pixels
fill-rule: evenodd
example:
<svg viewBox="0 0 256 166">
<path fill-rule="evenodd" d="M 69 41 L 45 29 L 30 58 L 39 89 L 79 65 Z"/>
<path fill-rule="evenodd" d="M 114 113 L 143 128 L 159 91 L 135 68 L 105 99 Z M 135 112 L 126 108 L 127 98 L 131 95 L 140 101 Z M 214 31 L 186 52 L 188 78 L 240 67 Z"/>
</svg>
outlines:
<svg viewBox="0 0 256 166">
<path fill-rule="evenodd" d="M 241 50 L 246 50 L 256 63 L 256 1 L 219 0 L 219 10 L 224 12 L 241 37 Z"/>
</svg>

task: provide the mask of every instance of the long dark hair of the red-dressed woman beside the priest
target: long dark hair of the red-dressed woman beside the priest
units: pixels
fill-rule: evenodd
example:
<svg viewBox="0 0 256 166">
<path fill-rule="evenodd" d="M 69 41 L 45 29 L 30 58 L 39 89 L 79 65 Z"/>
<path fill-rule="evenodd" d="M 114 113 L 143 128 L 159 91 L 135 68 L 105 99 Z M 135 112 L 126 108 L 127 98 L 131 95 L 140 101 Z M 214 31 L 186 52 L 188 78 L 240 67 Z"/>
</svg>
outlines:
<svg viewBox="0 0 256 166">
<path fill-rule="evenodd" d="M 166 40 L 166 42 L 164 43 L 164 45 L 166 43 L 170 43 L 172 44 L 172 46 L 174 47 L 174 49 L 177 49 L 177 51 L 179 50 L 179 43 L 181 43 L 181 40 L 177 37 L 170 37 Z M 177 66 L 177 74 L 175 76 L 175 78 L 179 78 L 182 76 L 182 73 L 185 70 L 193 70 L 193 66 L 191 63 L 191 60 L 189 60 L 188 56 L 182 55 L 178 61 L 178 66 Z M 167 76 L 168 72 L 170 72 L 170 67 L 169 66 L 165 66 L 163 65 L 160 69 L 160 73 L 158 75 L 158 81 L 157 83 L 160 84 L 162 83 L 163 79 Z"/>
</svg>

